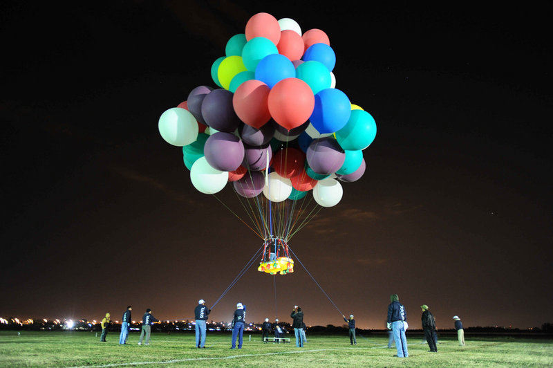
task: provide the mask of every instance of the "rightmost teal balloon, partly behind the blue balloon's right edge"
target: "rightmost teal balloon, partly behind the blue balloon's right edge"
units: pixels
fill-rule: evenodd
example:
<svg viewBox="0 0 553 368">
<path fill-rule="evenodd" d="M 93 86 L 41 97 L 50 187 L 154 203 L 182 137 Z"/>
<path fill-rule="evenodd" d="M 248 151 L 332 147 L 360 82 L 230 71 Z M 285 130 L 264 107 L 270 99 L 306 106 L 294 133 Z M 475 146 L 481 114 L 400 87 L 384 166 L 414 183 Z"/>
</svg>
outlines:
<svg viewBox="0 0 553 368">
<path fill-rule="evenodd" d="M 366 149 L 375 137 L 375 119 L 364 110 L 352 110 L 347 124 L 336 132 L 339 145 L 348 151 Z"/>
</svg>

